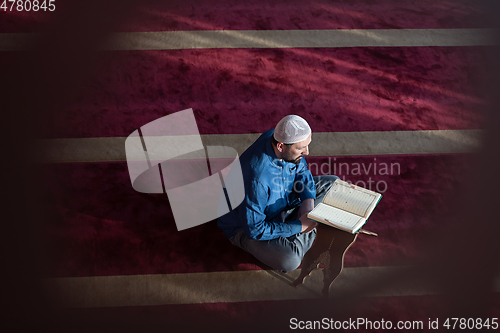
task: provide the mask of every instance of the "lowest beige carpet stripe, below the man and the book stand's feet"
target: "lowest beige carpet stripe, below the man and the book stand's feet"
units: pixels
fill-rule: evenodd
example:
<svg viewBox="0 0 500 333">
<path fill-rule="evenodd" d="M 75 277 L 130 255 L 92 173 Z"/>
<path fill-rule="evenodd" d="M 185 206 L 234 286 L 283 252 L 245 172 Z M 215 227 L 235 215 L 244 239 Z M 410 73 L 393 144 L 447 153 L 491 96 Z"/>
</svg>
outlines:
<svg viewBox="0 0 500 333">
<path fill-rule="evenodd" d="M 367 281 L 398 273 L 403 266 L 345 268 L 330 289 L 336 292 L 355 290 Z M 320 297 L 323 273 L 313 271 L 304 284 L 294 288 L 290 283 L 300 274 L 276 271 L 212 272 L 191 274 L 157 274 L 55 278 L 45 280 L 49 295 L 68 307 L 120 307 L 165 304 L 218 302 L 253 302 Z M 495 290 L 500 291 L 497 279 Z M 421 296 L 437 294 L 422 280 L 404 281 L 390 288 L 374 290 L 370 297 Z"/>
</svg>

